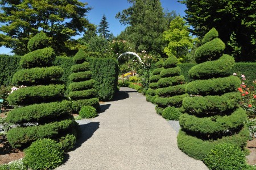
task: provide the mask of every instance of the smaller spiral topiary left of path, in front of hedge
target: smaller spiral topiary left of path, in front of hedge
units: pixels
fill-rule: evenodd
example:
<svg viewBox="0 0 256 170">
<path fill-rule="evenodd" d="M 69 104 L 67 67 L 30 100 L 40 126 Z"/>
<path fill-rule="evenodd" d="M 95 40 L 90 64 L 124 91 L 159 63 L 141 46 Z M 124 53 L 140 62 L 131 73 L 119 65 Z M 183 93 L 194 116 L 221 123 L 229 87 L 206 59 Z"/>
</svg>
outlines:
<svg viewBox="0 0 256 170">
<path fill-rule="evenodd" d="M 93 106 L 99 109 L 99 101 L 96 97 L 97 91 L 93 88 L 95 80 L 92 79 L 90 65 L 86 61 L 86 53 L 80 49 L 73 57 L 74 63 L 71 67 L 73 72 L 69 78 L 72 83 L 69 85 L 69 97 L 72 99 L 72 110 L 79 112 L 82 106 Z"/>
</svg>

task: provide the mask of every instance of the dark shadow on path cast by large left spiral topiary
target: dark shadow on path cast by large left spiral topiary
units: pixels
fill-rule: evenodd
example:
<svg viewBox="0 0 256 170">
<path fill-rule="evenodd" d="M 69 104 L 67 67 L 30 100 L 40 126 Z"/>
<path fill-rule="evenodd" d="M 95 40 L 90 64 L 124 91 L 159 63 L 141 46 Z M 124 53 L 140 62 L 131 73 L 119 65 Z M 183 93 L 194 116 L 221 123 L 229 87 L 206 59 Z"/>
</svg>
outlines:
<svg viewBox="0 0 256 170">
<path fill-rule="evenodd" d="M 99 126 L 100 126 L 100 122 L 90 122 L 84 125 L 79 125 L 80 134 L 77 138 L 77 141 L 73 150 L 76 150 L 82 145 L 82 143 L 90 139 L 93 136 L 94 132 L 99 128 Z"/>
</svg>

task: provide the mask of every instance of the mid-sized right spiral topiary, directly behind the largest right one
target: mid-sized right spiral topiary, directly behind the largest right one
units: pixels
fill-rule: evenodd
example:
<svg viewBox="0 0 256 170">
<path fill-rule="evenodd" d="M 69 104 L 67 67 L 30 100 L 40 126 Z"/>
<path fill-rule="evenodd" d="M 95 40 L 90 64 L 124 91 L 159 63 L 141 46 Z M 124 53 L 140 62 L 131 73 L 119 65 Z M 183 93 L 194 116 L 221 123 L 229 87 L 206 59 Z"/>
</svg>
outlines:
<svg viewBox="0 0 256 170">
<path fill-rule="evenodd" d="M 184 76 L 180 76 L 180 67 L 176 65 L 177 58 L 172 55 L 163 63 L 161 78 L 158 81 L 159 88 L 156 90 L 155 103 L 156 113 L 162 115 L 164 108 L 173 106 L 180 108 L 185 94 Z M 181 108 L 180 108 L 181 110 Z"/>
</svg>

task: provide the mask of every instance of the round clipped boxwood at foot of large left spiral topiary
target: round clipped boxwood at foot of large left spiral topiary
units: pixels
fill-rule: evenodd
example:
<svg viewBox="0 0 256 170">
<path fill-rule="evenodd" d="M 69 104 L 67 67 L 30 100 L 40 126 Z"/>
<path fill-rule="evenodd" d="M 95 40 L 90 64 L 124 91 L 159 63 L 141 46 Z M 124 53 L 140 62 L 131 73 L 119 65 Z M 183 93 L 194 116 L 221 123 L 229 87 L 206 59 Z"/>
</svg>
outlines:
<svg viewBox="0 0 256 170">
<path fill-rule="evenodd" d="M 55 140 L 36 140 L 25 150 L 24 163 L 31 169 L 54 169 L 64 159 L 64 152 Z"/>
</svg>

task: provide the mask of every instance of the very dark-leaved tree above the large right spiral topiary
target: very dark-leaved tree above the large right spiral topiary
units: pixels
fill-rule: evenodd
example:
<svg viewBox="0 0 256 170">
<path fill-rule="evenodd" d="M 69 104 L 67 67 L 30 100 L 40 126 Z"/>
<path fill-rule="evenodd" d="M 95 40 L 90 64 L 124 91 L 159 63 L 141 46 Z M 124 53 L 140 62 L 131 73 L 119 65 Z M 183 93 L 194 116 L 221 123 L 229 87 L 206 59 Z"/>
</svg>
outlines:
<svg viewBox="0 0 256 170">
<path fill-rule="evenodd" d="M 179 1 L 187 6 L 185 19 L 193 26 L 194 35 L 203 38 L 212 27 L 219 32 L 220 39 L 228 44 L 225 53 L 236 61 L 256 59 L 256 2 L 249 1 Z"/>
</svg>

